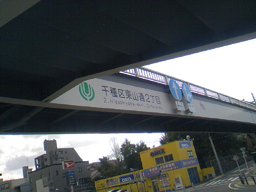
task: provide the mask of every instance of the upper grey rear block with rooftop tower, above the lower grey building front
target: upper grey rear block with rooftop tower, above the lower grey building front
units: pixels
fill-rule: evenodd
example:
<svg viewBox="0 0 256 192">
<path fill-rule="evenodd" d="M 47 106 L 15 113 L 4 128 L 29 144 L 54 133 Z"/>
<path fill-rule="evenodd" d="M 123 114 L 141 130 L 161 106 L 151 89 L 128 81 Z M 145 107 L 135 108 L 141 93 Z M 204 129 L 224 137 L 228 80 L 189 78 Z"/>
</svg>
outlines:
<svg viewBox="0 0 256 192">
<path fill-rule="evenodd" d="M 83 161 L 74 148 L 57 148 L 56 140 L 44 140 L 44 150 L 46 154 L 35 158 L 36 170 L 53 164 L 60 164 L 66 160 Z"/>
</svg>

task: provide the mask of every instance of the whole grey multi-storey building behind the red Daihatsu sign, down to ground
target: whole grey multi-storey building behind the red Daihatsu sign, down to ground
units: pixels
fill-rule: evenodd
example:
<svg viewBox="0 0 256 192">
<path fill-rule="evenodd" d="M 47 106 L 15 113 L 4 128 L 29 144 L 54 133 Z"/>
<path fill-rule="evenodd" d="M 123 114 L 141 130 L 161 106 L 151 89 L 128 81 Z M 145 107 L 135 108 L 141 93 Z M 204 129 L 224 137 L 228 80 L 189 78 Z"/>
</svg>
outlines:
<svg viewBox="0 0 256 192">
<path fill-rule="evenodd" d="M 46 154 L 35 158 L 36 170 L 28 174 L 30 192 L 91 190 L 89 162 L 83 161 L 74 148 L 57 148 L 56 140 L 44 140 L 44 150 Z M 65 161 L 74 162 L 74 166 L 64 169 Z"/>
</svg>

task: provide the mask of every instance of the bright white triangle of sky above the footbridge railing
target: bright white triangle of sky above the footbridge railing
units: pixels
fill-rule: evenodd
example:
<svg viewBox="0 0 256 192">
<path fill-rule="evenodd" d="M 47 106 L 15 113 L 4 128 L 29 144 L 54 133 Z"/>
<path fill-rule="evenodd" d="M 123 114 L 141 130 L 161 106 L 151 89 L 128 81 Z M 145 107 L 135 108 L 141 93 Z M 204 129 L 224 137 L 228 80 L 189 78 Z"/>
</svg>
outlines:
<svg viewBox="0 0 256 192">
<path fill-rule="evenodd" d="M 240 100 L 256 95 L 256 39 L 146 67 Z"/>
</svg>

